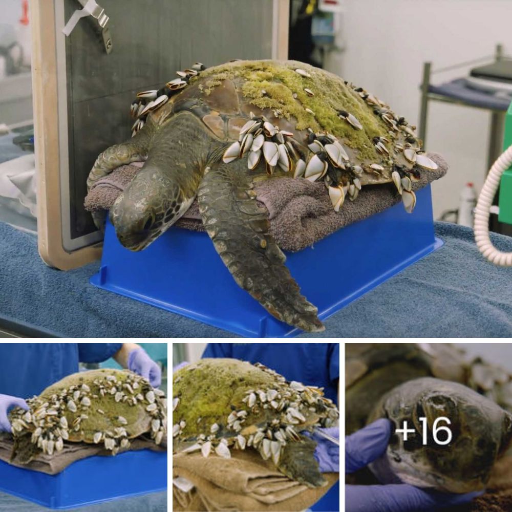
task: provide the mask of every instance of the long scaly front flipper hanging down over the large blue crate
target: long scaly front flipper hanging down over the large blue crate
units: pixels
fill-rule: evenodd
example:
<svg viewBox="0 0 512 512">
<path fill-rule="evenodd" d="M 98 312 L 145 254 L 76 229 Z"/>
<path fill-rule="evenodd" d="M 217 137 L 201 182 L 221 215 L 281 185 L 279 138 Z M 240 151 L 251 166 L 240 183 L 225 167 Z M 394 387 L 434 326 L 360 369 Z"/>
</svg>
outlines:
<svg viewBox="0 0 512 512">
<path fill-rule="evenodd" d="M 199 186 L 204 226 L 233 279 L 273 316 L 305 331 L 323 331 L 317 308 L 301 295 L 255 200 L 245 161 L 212 164 Z"/>
</svg>

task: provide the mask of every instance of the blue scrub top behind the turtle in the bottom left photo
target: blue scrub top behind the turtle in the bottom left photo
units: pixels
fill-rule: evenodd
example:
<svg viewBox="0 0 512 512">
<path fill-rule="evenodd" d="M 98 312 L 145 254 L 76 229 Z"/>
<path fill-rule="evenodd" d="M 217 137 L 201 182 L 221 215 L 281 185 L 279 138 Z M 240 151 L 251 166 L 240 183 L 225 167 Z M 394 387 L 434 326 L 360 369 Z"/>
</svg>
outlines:
<svg viewBox="0 0 512 512">
<path fill-rule="evenodd" d="M 78 362 L 100 362 L 114 355 L 122 343 L 2 343 L 0 393 L 22 398 L 38 395 L 66 375 Z"/>
</svg>

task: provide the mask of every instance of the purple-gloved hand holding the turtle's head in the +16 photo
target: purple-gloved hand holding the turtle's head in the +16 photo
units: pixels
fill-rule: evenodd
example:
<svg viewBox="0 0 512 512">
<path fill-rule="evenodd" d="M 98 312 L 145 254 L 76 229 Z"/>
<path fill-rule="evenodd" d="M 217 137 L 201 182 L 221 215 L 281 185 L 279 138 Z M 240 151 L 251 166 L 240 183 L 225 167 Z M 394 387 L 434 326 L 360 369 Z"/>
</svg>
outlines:
<svg viewBox="0 0 512 512">
<path fill-rule="evenodd" d="M 345 439 L 345 471 L 353 473 L 379 458 L 388 446 L 392 423 L 379 419 Z M 427 492 L 409 484 L 346 485 L 346 512 L 417 512 L 471 501 L 479 493 Z"/>
</svg>

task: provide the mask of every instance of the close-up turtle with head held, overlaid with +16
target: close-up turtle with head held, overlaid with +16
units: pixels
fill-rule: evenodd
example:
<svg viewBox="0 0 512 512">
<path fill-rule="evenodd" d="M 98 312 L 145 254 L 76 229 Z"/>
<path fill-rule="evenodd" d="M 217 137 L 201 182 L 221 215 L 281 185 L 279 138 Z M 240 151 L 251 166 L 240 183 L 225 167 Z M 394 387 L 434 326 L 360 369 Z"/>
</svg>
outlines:
<svg viewBox="0 0 512 512">
<path fill-rule="evenodd" d="M 347 344 L 346 376 L 348 434 L 377 418 L 393 422 L 387 451 L 370 465 L 381 482 L 453 493 L 485 487 L 512 439 L 512 414 L 475 390 L 509 407 L 507 372 L 442 344 Z M 395 432 L 404 421 L 411 431 Z"/>
</svg>

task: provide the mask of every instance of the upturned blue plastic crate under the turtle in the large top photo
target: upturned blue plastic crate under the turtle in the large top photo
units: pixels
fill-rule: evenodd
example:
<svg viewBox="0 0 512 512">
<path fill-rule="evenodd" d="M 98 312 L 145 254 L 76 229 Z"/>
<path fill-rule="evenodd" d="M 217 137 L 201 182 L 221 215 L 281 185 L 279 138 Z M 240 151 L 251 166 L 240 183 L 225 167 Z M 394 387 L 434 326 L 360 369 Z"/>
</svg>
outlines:
<svg viewBox="0 0 512 512">
<path fill-rule="evenodd" d="M 412 214 L 397 204 L 286 253 L 286 264 L 325 319 L 441 245 L 429 185 L 418 191 Z M 276 320 L 234 282 L 206 233 L 170 228 L 132 252 L 107 223 L 100 271 L 91 283 L 242 336 L 302 332 Z"/>
</svg>

